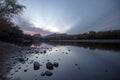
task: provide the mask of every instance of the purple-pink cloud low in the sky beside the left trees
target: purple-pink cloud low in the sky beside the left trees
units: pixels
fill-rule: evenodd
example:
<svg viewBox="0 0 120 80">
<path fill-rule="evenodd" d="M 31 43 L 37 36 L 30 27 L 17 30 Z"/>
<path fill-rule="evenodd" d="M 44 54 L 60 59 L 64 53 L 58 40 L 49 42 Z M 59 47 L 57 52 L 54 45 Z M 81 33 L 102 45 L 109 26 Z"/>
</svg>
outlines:
<svg viewBox="0 0 120 80">
<path fill-rule="evenodd" d="M 27 34 L 41 34 L 41 35 L 48 35 L 51 34 L 52 32 L 50 31 L 45 31 L 43 29 L 37 28 L 35 27 L 35 25 L 33 25 L 30 20 L 28 20 L 27 18 L 23 17 L 23 16 L 15 16 L 13 18 L 13 22 L 18 25 L 24 33 Z"/>
</svg>

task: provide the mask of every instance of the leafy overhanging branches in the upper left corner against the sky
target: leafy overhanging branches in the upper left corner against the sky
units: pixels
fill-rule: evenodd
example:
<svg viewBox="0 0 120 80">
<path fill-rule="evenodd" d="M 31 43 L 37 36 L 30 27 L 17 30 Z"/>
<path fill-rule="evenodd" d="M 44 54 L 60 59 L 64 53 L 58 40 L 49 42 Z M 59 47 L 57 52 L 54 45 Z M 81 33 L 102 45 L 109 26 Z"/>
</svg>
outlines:
<svg viewBox="0 0 120 80">
<path fill-rule="evenodd" d="M 21 13 L 25 6 L 18 4 L 17 0 L 0 0 L 0 18 L 10 19 L 13 15 Z"/>
</svg>

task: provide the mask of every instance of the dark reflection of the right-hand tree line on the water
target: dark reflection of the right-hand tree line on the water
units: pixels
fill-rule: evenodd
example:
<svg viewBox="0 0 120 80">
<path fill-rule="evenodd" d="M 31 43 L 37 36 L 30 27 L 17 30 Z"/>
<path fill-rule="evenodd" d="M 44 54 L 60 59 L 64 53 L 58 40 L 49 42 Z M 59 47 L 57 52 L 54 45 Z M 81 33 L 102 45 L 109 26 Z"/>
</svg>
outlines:
<svg viewBox="0 0 120 80">
<path fill-rule="evenodd" d="M 77 46 L 83 48 L 89 48 L 91 50 L 109 50 L 109 51 L 120 51 L 120 43 L 82 43 L 82 42 L 67 42 L 67 41 L 47 41 L 44 42 L 49 45 L 57 46 Z"/>
</svg>

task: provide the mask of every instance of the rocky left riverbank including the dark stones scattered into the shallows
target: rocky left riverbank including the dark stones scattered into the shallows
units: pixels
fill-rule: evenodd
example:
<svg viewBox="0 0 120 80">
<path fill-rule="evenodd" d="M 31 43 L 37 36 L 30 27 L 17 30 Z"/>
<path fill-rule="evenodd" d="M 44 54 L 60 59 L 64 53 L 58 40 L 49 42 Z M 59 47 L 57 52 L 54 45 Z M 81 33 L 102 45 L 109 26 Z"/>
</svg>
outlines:
<svg viewBox="0 0 120 80">
<path fill-rule="evenodd" d="M 44 64 L 40 63 L 38 61 L 38 56 L 40 54 L 43 54 L 44 57 L 47 51 L 52 51 L 52 48 L 35 48 L 35 47 L 20 47 L 14 44 L 5 43 L 0 41 L 0 80 L 13 80 L 12 76 L 19 72 L 22 68 L 22 66 L 26 65 L 26 69 L 24 69 L 24 72 L 27 72 L 29 70 L 29 66 L 33 64 L 33 70 L 39 70 L 41 66 L 46 66 L 46 71 L 41 73 L 41 76 L 52 76 L 53 73 L 48 70 L 53 70 L 54 68 L 57 68 L 59 66 L 58 62 L 50 62 L 48 59 L 47 62 Z M 56 50 L 57 52 L 58 50 Z M 35 56 L 36 59 L 30 59 L 29 56 Z M 50 53 L 51 55 L 51 53 Z M 29 68 L 28 68 L 29 67 Z M 14 72 L 11 73 L 11 70 L 14 70 Z M 8 76 L 10 75 L 10 76 Z M 15 79 L 16 80 L 16 79 Z"/>
</svg>

